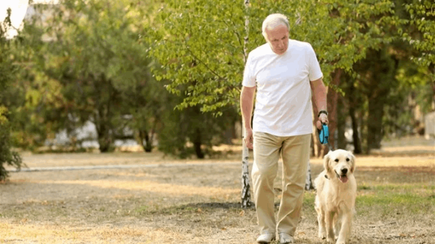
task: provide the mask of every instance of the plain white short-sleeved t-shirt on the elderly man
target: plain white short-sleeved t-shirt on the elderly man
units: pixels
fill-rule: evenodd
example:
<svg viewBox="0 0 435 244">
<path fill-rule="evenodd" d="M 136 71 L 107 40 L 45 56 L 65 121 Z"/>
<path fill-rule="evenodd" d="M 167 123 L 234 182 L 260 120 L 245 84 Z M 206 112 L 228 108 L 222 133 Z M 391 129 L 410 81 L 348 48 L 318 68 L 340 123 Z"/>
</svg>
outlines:
<svg viewBox="0 0 435 244">
<path fill-rule="evenodd" d="M 311 86 L 323 77 L 307 42 L 289 40 L 278 55 L 269 43 L 252 50 L 243 72 L 243 86 L 257 86 L 252 130 L 275 136 L 312 133 Z"/>
</svg>

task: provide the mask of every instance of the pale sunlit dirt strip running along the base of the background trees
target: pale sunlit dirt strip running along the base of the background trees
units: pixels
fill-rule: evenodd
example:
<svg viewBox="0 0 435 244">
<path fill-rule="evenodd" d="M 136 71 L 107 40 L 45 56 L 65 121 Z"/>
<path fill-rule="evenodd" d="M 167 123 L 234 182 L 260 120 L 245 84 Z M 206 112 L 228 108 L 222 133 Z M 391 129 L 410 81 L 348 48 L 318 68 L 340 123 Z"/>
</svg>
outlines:
<svg viewBox="0 0 435 244">
<path fill-rule="evenodd" d="M 385 157 L 387 155 L 387 157 Z M 227 159 L 176 160 L 164 157 L 161 153 L 68 153 L 68 154 L 23 154 L 23 163 L 29 168 L 55 170 L 56 167 L 77 167 L 92 169 L 111 165 L 111 167 L 141 167 L 145 165 L 190 165 L 213 163 L 237 164 L 241 156 L 232 154 Z M 359 166 L 435 166 L 435 146 L 386 147 L 371 156 L 358 156 Z M 252 153 L 249 161 L 252 163 Z M 312 164 L 322 164 L 322 159 L 312 158 Z M 23 169 L 26 167 L 23 167 Z M 104 168 L 104 167 L 103 167 Z M 13 168 L 8 168 L 13 170 Z M 67 168 L 65 168 L 67 169 Z"/>
</svg>

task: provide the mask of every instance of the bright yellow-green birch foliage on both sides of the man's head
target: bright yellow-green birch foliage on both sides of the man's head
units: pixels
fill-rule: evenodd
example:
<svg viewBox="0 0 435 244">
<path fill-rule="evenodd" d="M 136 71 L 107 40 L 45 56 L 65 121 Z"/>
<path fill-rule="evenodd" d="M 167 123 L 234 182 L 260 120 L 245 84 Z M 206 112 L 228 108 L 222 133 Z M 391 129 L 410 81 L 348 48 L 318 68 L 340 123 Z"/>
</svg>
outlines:
<svg viewBox="0 0 435 244">
<path fill-rule="evenodd" d="M 148 41 L 161 63 L 157 80 L 186 98 L 178 108 L 201 105 L 201 110 L 238 103 L 244 65 L 244 17 L 249 19 L 248 50 L 264 43 L 261 22 L 281 12 L 291 23 L 290 38 L 310 42 L 319 57 L 326 83 L 336 69 L 350 70 L 367 50 L 391 41 L 383 27 L 393 28 L 390 0 L 256 1 L 245 10 L 237 1 L 165 1 Z M 373 19 L 374 16 L 381 16 Z"/>
</svg>

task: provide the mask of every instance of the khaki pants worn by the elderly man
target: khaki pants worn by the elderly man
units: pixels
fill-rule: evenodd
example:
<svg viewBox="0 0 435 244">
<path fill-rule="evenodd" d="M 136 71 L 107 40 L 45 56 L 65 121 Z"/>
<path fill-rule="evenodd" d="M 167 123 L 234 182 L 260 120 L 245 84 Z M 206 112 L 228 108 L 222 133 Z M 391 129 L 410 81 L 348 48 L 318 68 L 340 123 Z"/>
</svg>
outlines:
<svg viewBox="0 0 435 244">
<path fill-rule="evenodd" d="M 303 203 L 311 134 L 279 137 L 254 132 L 253 138 L 252 181 L 260 232 L 277 231 L 294 236 Z M 273 182 L 280 155 L 283 157 L 283 192 L 276 222 Z"/>
</svg>

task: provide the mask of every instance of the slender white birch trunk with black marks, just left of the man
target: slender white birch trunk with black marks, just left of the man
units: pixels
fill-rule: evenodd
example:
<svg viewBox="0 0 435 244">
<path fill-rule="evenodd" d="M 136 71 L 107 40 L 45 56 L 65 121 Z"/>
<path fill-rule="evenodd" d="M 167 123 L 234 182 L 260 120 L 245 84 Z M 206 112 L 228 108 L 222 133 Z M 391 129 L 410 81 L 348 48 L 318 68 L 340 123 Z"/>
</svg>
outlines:
<svg viewBox="0 0 435 244">
<path fill-rule="evenodd" d="M 246 63 L 246 59 L 248 58 L 248 38 L 249 38 L 249 0 L 243 0 L 243 4 L 245 5 L 245 38 L 243 43 L 243 57 L 244 62 Z M 251 185 L 249 183 L 249 165 L 248 165 L 248 159 L 249 159 L 249 150 L 245 143 L 245 126 L 242 124 L 242 173 L 241 173 L 241 184 L 242 184 L 242 190 L 241 190 L 241 207 L 247 208 L 252 205 L 251 202 Z"/>
</svg>

